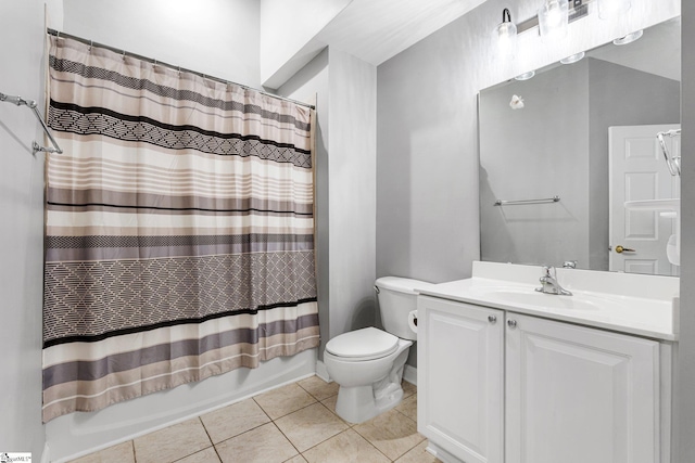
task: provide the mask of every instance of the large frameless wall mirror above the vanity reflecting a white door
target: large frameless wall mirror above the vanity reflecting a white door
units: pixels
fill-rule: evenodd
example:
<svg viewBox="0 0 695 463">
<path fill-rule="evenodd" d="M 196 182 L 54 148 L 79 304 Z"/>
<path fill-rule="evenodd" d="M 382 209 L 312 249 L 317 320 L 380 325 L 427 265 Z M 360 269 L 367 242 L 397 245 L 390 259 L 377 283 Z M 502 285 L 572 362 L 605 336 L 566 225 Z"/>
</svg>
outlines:
<svg viewBox="0 0 695 463">
<path fill-rule="evenodd" d="M 680 177 L 656 136 L 680 129 L 680 41 L 674 18 L 480 92 L 482 260 L 679 274 Z"/>
</svg>

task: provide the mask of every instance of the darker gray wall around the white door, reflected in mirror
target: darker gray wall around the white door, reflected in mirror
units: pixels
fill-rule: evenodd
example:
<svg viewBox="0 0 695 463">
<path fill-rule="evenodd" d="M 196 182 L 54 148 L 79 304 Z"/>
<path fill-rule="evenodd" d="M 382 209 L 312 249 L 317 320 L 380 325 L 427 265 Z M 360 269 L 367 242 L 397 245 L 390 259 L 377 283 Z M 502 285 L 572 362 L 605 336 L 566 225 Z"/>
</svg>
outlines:
<svg viewBox="0 0 695 463">
<path fill-rule="evenodd" d="M 589 263 L 608 270 L 608 127 L 680 123 L 681 82 L 601 60 L 590 60 L 589 80 Z"/>
</svg>

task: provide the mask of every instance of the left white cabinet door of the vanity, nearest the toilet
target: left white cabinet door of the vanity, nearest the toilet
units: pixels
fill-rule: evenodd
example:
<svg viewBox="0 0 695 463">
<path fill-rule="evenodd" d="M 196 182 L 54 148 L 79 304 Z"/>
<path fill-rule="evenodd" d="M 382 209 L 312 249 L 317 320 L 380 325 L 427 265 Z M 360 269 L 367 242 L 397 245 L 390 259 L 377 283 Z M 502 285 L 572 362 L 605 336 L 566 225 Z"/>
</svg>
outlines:
<svg viewBox="0 0 695 463">
<path fill-rule="evenodd" d="M 504 312 L 418 297 L 418 430 L 466 463 L 503 463 Z"/>
</svg>

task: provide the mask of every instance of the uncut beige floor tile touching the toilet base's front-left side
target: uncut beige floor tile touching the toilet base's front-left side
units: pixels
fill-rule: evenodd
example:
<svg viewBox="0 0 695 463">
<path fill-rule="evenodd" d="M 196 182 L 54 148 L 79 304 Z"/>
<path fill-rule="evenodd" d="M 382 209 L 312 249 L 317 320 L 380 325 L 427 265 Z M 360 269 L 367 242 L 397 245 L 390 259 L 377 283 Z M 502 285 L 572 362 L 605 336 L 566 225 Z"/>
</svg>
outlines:
<svg viewBox="0 0 695 463">
<path fill-rule="evenodd" d="M 300 452 L 349 428 L 321 403 L 314 403 L 282 416 L 275 424 Z"/>
</svg>

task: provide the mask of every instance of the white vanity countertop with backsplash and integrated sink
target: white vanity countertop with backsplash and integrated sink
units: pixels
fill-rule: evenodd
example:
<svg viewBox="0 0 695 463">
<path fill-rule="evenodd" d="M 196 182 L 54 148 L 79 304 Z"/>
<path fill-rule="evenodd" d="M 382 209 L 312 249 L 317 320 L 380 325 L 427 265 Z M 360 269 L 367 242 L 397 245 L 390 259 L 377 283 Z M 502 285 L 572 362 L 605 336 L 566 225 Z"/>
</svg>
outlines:
<svg viewBox="0 0 695 463">
<path fill-rule="evenodd" d="M 678 340 L 678 279 L 584 270 L 557 271 L 557 280 L 573 293 L 572 296 L 535 292 L 540 286 L 536 283 L 541 275 L 540 267 L 493 262 L 475 262 L 470 279 L 434 284 L 418 292 L 516 313 Z"/>
</svg>

